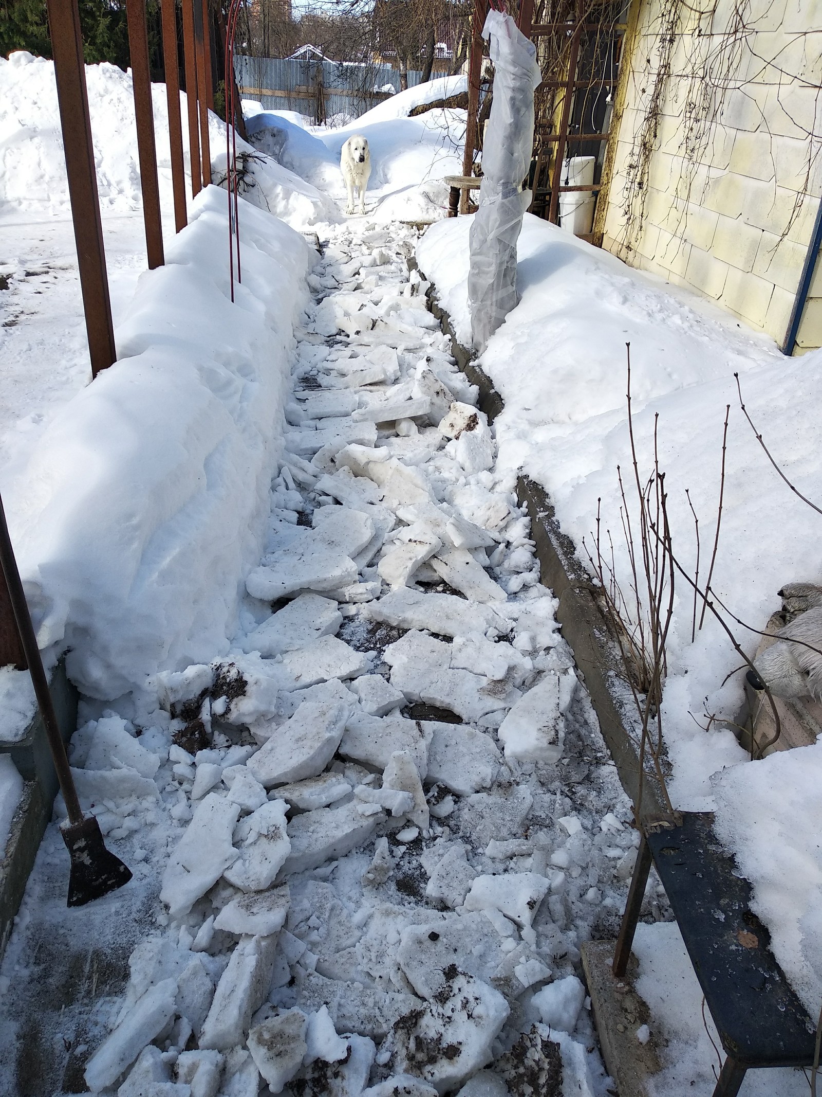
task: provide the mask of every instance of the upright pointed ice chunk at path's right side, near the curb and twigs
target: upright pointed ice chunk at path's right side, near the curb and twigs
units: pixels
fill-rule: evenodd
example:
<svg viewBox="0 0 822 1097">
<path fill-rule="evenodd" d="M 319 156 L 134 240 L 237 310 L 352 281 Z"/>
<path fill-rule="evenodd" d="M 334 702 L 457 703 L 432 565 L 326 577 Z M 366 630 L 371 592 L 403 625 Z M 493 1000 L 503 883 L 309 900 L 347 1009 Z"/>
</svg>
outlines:
<svg viewBox="0 0 822 1097">
<path fill-rule="evenodd" d="M 576 676 L 547 671 L 512 708 L 499 730 L 505 757 L 520 761 L 556 762 L 562 756 L 562 714 L 573 698 Z"/>
</svg>

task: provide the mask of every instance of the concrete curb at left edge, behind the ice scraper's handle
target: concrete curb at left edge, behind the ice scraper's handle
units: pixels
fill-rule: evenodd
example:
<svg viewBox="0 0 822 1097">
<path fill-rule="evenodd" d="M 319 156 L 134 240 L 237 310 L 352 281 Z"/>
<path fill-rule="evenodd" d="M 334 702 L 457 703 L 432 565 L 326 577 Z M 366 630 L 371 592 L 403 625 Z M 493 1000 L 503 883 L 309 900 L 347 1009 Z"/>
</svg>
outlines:
<svg viewBox="0 0 822 1097">
<path fill-rule="evenodd" d="M 50 687 L 62 740 L 68 743 L 77 726 L 78 694 L 66 676 L 62 660 L 52 675 Z M 11 755 L 18 772 L 25 782 L 9 828 L 9 840 L 5 844 L 3 858 L 0 860 L 0 959 L 2 959 L 41 839 L 52 818 L 52 806 L 58 788 L 39 711 L 35 713 L 19 743 L 0 743 L 0 754 Z"/>
</svg>

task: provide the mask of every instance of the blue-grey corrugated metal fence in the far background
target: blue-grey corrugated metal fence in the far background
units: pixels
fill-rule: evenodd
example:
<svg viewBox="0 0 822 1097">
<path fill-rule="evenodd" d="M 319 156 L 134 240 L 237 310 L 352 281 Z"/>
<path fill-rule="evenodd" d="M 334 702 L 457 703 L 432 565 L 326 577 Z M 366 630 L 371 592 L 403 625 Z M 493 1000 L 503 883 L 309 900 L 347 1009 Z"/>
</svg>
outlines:
<svg viewBox="0 0 822 1097">
<path fill-rule="evenodd" d="M 359 117 L 388 99 L 386 84 L 400 90 L 400 73 L 390 65 L 235 55 L 235 66 L 244 99 L 260 100 L 267 111 L 297 111 L 318 124 L 340 115 Z M 421 77 L 410 71 L 409 88 Z"/>
</svg>

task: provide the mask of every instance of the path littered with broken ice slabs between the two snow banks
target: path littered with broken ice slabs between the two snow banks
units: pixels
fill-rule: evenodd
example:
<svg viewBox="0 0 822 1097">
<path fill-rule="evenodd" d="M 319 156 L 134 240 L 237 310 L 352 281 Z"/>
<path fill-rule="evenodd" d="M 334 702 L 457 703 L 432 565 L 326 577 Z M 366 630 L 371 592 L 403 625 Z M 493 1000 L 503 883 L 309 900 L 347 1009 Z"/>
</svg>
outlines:
<svg viewBox="0 0 822 1097">
<path fill-rule="evenodd" d="M 49 827 L 4 1093 L 605 1093 L 579 946 L 615 936 L 629 804 L 415 230 L 327 231 L 235 651 L 82 705 L 135 879 L 67 912 Z"/>
</svg>

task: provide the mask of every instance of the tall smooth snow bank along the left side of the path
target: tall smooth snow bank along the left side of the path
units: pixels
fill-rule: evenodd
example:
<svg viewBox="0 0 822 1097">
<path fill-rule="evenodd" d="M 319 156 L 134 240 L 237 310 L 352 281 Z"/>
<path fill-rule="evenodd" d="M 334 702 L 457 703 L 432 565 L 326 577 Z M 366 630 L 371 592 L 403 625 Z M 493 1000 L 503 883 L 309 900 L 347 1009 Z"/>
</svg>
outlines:
<svg viewBox="0 0 822 1097">
<path fill-rule="evenodd" d="M 55 417 L 18 487 L 39 644 L 69 649 L 92 697 L 227 651 L 260 556 L 309 249 L 251 206 L 241 230 L 232 305 L 225 192 L 201 193 L 139 280 L 119 360 Z"/>
</svg>

